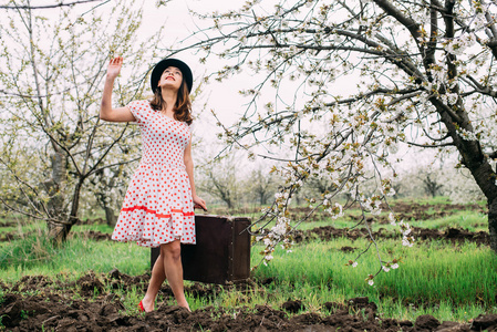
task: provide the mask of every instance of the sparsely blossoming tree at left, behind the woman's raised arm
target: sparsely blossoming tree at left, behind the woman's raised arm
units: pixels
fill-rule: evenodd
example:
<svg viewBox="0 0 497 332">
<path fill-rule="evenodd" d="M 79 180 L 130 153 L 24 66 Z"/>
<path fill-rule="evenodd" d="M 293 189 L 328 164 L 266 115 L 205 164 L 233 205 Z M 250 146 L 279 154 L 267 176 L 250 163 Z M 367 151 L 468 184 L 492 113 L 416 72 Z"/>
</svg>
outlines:
<svg viewBox="0 0 497 332">
<path fill-rule="evenodd" d="M 114 98 L 124 105 L 142 96 L 144 64 L 161 35 L 137 42 L 142 12 L 130 9 L 133 1 L 84 17 L 61 7 L 55 19 L 29 8 L 30 1 L 15 3 L 0 21 L 0 203 L 46 220 L 51 237 L 63 241 L 79 220 L 89 179 L 139 157 L 134 126 L 99 118 L 108 59 L 126 59 Z"/>
</svg>

